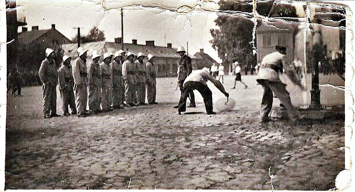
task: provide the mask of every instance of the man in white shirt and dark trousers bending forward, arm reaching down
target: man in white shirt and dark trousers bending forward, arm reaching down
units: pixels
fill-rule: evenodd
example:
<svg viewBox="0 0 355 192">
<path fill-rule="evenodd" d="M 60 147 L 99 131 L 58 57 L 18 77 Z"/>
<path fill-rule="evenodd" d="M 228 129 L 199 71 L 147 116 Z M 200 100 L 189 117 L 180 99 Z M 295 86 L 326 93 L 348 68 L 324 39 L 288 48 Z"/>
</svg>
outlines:
<svg viewBox="0 0 355 192">
<path fill-rule="evenodd" d="M 187 76 L 183 84 L 179 101 L 179 115 L 181 112 L 186 111 L 186 99 L 189 96 L 189 92 L 193 90 L 200 92 L 203 97 L 207 114 L 215 114 L 215 112 L 213 112 L 212 91 L 208 88 L 206 84 L 207 81 L 211 81 L 218 90 L 220 90 L 226 97 L 229 97 L 229 94 L 225 92 L 223 85 L 209 74 L 208 68 L 192 71 L 192 73 Z"/>
</svg>

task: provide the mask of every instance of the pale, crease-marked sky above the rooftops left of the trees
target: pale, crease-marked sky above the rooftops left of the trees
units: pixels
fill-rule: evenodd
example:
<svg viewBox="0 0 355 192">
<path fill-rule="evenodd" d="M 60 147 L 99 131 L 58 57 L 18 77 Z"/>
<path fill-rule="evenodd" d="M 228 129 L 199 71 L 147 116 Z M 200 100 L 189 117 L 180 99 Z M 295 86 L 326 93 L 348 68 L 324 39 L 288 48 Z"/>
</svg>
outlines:
<svg viewBox="0 0 355 192">
<path fill-rule="evenodd" d="M 80 27 L 82 35 L 98 26 L 104 31 L 106 41 L 114 42 L 121 37 L 121 12 L 124 9 L 124 43 L 138 44 L 155 41 L 156 46 L 184 46 L 189 42 L 189 54 L 199 52 L 201 48 L 217 62 L 218 58 L 209 41 L 210 30 L 218 28 L 214 20 L 214 10 L 218 9 L 218 0 L 17 0 L 18 18 L 25 16 L 28 30 L 32 26 L 56 29 L 69 39 Z M 132 5 L 133 4 L 133 5 Z M 187 5 L 187 6 L 183 6 Z M 103 8 L 105 7 L 105 9 Z M 189 11 L 194 7 L 193 11 Z M 18 31 L 21 31 L 19 27 Z"/>
</svg>

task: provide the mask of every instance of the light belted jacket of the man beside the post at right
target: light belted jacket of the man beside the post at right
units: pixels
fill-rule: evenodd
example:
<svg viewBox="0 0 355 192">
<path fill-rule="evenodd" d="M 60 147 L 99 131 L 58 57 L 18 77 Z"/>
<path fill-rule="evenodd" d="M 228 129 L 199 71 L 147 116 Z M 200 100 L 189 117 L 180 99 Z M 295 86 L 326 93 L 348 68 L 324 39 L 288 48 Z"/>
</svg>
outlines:
<svg viewBox="0 0 355 192">
<path fill-rule="evenodd" d="M 280 82 L 278 71 L 282 70 L 283 62 L 286 62 L 285 56 L 279 52 L 266 55 L 261 61 L 257 79 Z"/>
</svg>

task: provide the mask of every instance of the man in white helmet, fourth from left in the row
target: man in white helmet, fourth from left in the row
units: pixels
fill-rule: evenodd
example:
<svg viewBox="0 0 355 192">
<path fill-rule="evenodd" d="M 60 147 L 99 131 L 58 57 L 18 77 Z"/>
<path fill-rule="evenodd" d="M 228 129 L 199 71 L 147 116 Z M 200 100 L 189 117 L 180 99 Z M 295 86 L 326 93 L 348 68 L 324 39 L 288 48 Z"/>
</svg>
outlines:
<svg viewBox="0 0 355 192">
<path fill-rule="evenodd" d="M 93 114 L 101 112 L 101 76 L 100 60 L 101 55 L 96 50 L 92 53 L 92 62 L 88 63 L 88 91 L 89 109 Z"/>
</svg>

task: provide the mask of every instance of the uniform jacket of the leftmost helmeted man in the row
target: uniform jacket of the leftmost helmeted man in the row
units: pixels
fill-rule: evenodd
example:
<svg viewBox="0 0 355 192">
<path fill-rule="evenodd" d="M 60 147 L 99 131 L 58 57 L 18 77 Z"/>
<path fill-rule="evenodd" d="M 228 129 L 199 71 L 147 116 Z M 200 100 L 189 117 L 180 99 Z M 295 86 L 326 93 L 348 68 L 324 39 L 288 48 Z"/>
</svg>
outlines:
<svg viewBox="0 0 355 192">
<path fill-rule="evenodd" d="M 58 82 L 58 72 L 56 69 L 54 59 L 49 60 L 45 58 L 38 71 L 38 76 L 43 83 L 46 84 L 57 84 Z"/>
</svg>

